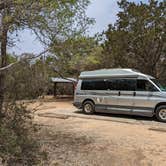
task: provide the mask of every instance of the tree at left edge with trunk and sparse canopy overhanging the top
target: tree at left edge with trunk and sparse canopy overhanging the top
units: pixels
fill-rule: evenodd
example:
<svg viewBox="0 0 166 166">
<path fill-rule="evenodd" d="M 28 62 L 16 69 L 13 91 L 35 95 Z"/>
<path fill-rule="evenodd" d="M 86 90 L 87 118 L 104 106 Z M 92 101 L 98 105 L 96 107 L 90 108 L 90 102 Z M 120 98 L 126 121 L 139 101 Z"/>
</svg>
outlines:
<svg viewBox="0 0 166 166">
<path fill-rule="evenodd" d="M 1 0 L 0 68 L 8 65 L 7 45 L 13 33 L 32 30 L 44 44 L 83 33 L 92 22 L 85 14 L 89 0 Z M 4 100 L 6 71 L 0 72 L 0 111 Z"/>
</svg>

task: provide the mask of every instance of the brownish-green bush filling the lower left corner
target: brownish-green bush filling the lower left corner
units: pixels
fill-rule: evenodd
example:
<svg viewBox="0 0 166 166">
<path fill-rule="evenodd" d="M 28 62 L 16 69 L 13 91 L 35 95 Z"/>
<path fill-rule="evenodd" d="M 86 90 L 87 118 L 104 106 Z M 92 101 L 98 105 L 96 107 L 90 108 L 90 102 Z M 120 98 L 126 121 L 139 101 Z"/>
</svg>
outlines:
<svg viewBox="0 0 166 166">
<path fill-rule="evenodd" d="M 25 106 L 6 103 L 0 117 L 0 158 L 4 165 L 37 165 L 45 156 L 36 140 L 38 128 Z"/>
</svg>

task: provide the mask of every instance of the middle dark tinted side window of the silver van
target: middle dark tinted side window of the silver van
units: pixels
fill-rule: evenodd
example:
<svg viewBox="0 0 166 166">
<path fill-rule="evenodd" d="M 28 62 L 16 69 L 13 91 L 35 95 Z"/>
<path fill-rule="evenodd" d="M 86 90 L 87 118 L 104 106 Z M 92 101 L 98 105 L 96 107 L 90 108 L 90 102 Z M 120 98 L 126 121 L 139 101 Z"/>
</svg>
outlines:
<svg viewBox="0 0 166 166">
<path fill-rule="evenodd" d="M 135 79 L 111 79 L 108 80 L 108 89 L 120 91 L 135 91 Z"/>
</svg>

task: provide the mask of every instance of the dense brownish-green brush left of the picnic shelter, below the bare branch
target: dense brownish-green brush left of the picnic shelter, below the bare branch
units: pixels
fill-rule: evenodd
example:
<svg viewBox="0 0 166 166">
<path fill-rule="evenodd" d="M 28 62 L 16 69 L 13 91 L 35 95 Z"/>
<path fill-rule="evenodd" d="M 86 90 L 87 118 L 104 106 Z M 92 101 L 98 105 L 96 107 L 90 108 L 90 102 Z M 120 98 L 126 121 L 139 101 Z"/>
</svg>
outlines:
<svg viewBox="0 0 166 166">
<path fill-rule="evenodd" d="M 15 65 L 6 77 L 6 99 L 34 99 L 47 93 L 49 75 L 43 60 L 34 64 L 23 61 Z"/>
</svg>

